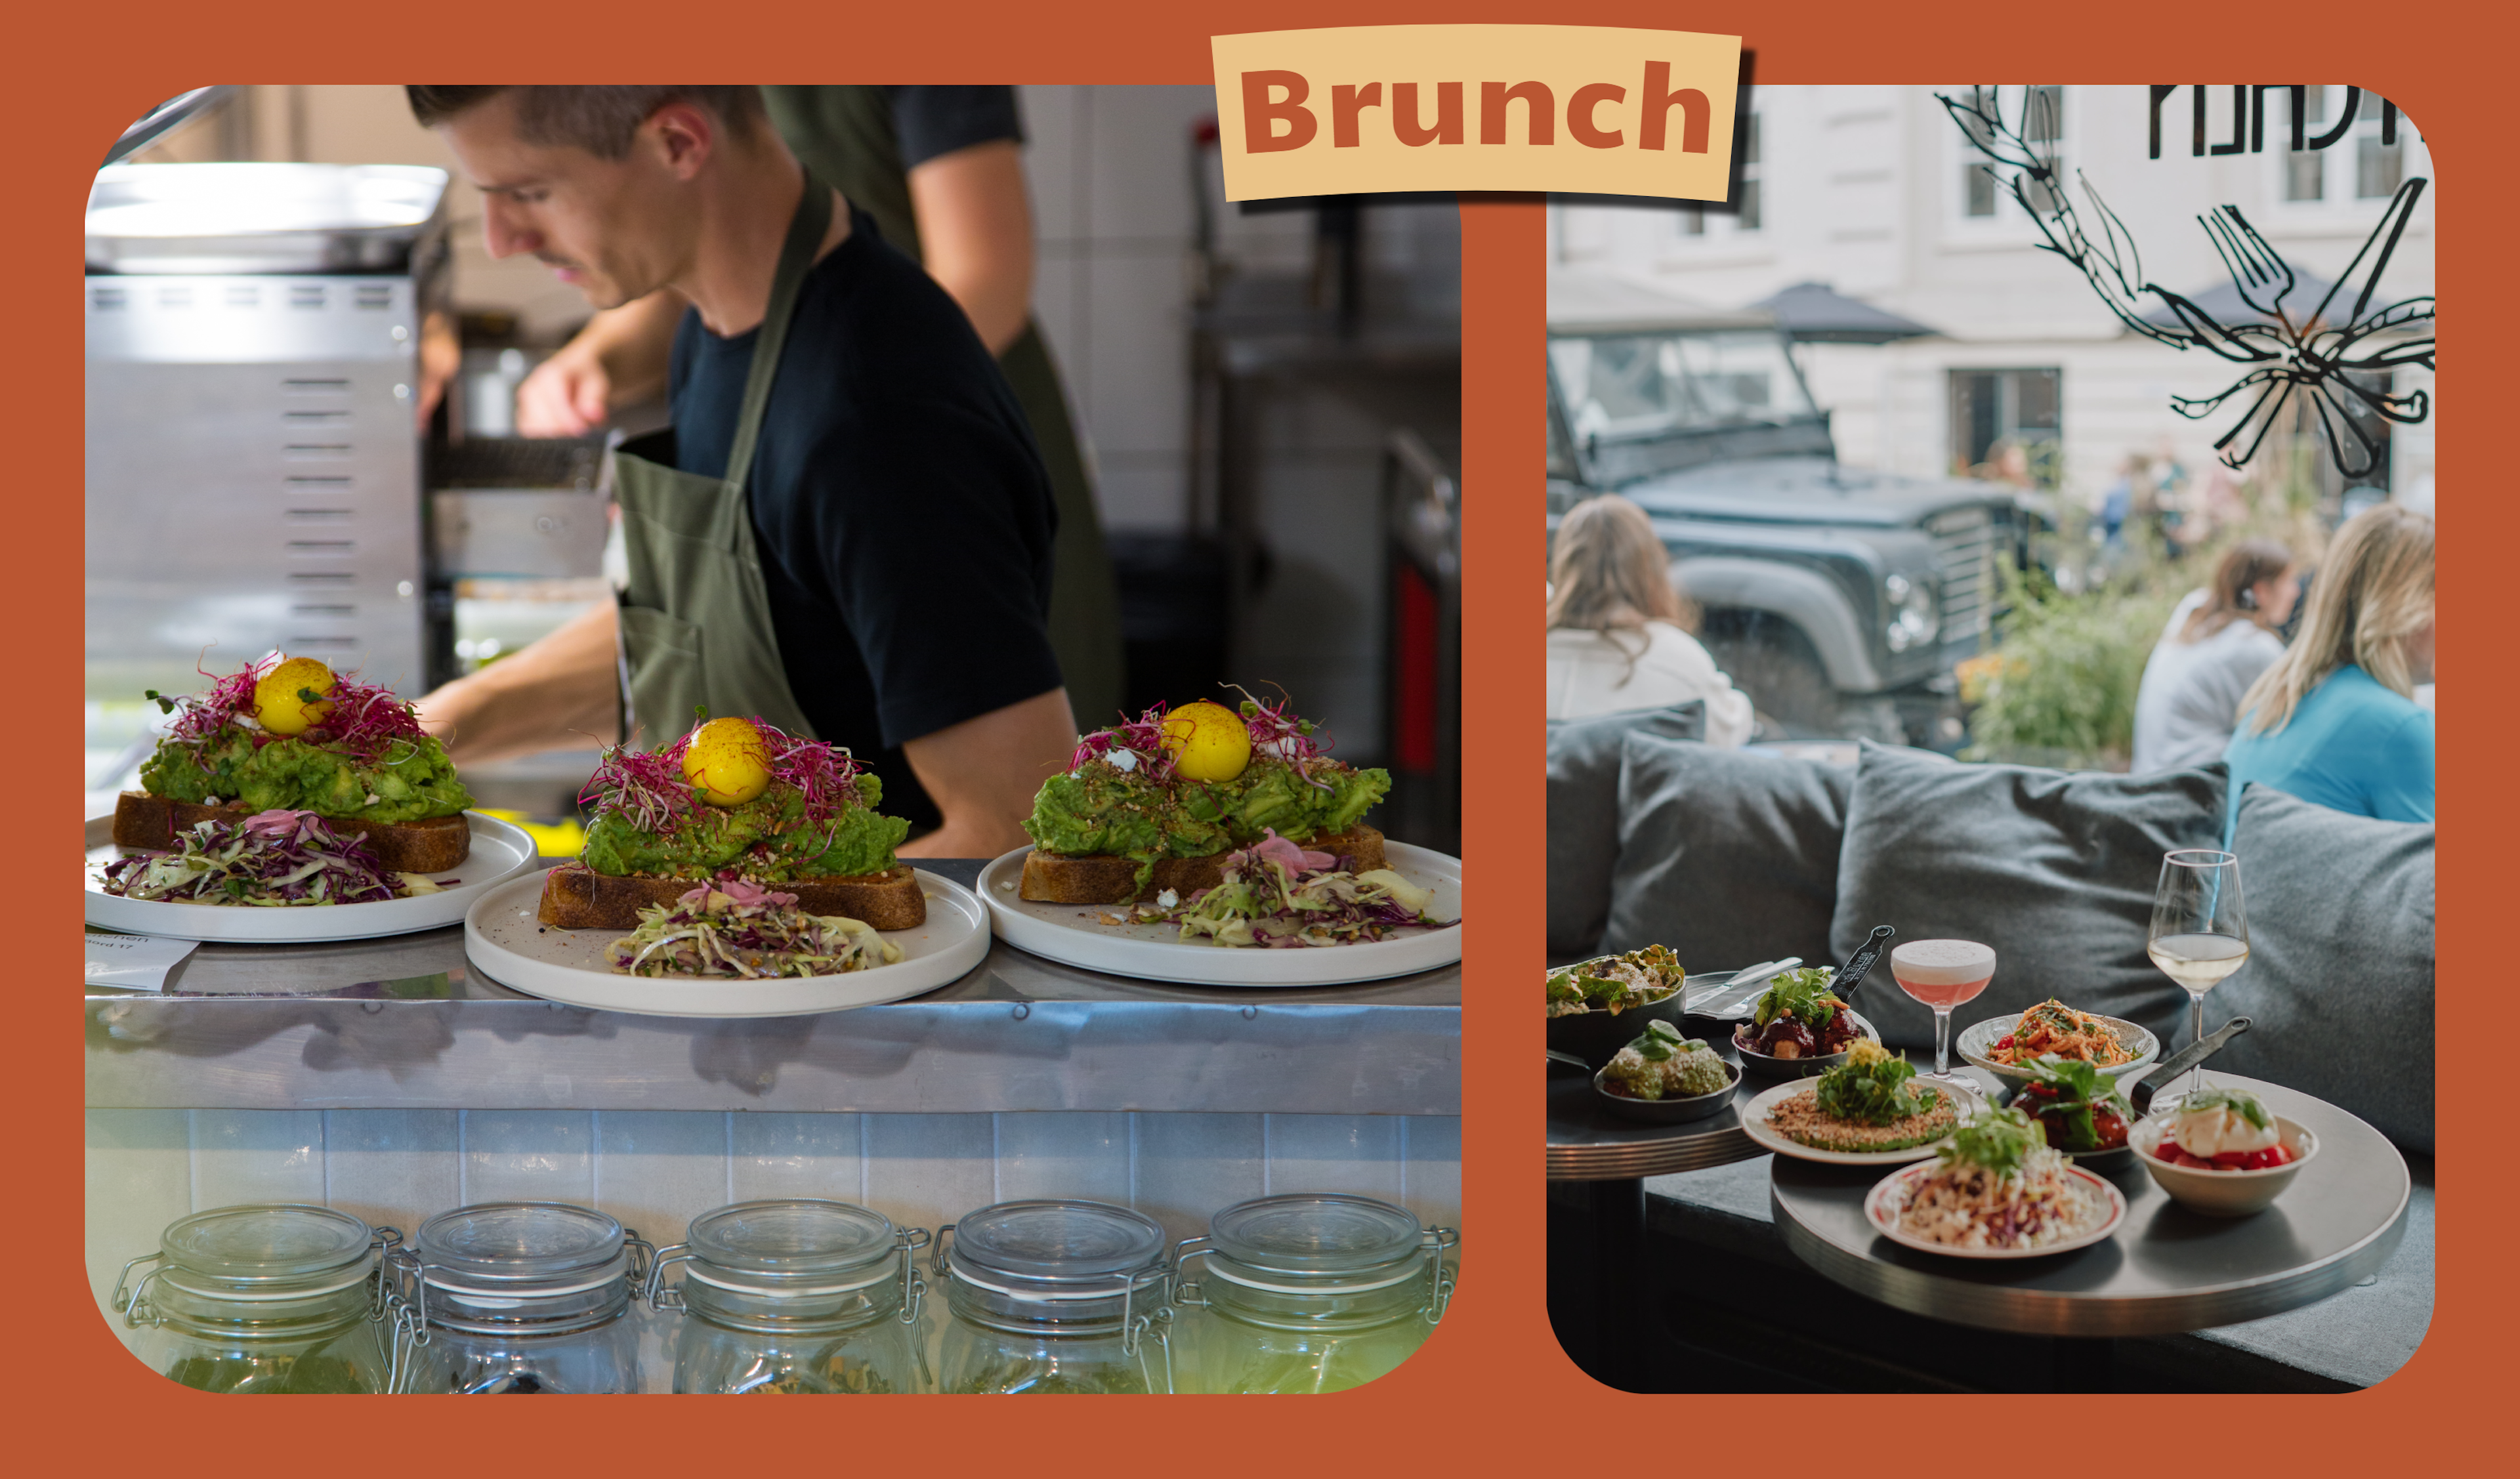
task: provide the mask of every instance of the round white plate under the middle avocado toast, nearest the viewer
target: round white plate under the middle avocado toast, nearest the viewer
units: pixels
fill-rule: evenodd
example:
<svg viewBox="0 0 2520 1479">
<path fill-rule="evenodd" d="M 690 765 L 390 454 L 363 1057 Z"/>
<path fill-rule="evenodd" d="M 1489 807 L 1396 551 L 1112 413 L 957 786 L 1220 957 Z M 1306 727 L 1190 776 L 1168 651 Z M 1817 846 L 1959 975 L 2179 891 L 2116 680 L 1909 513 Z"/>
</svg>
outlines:
<svg viewBox="0 0 2520 1479">
<path fill-rule="evenodd" d="M 653 1018 L 801 1018 L 902 1000 L 970 975 L 988 955 L 988 910 L 963 884 L 920 869 L 927 922 L 890 930 L 902 960 L 842 975 L 696 980 L 622 975 L 605 960 L 627 930 L 547 930 L 534 922 L 542 874 L 499 884 L 464 915 L 464 957 L 499 985 L 607 1013 Z"/>
</svg>

